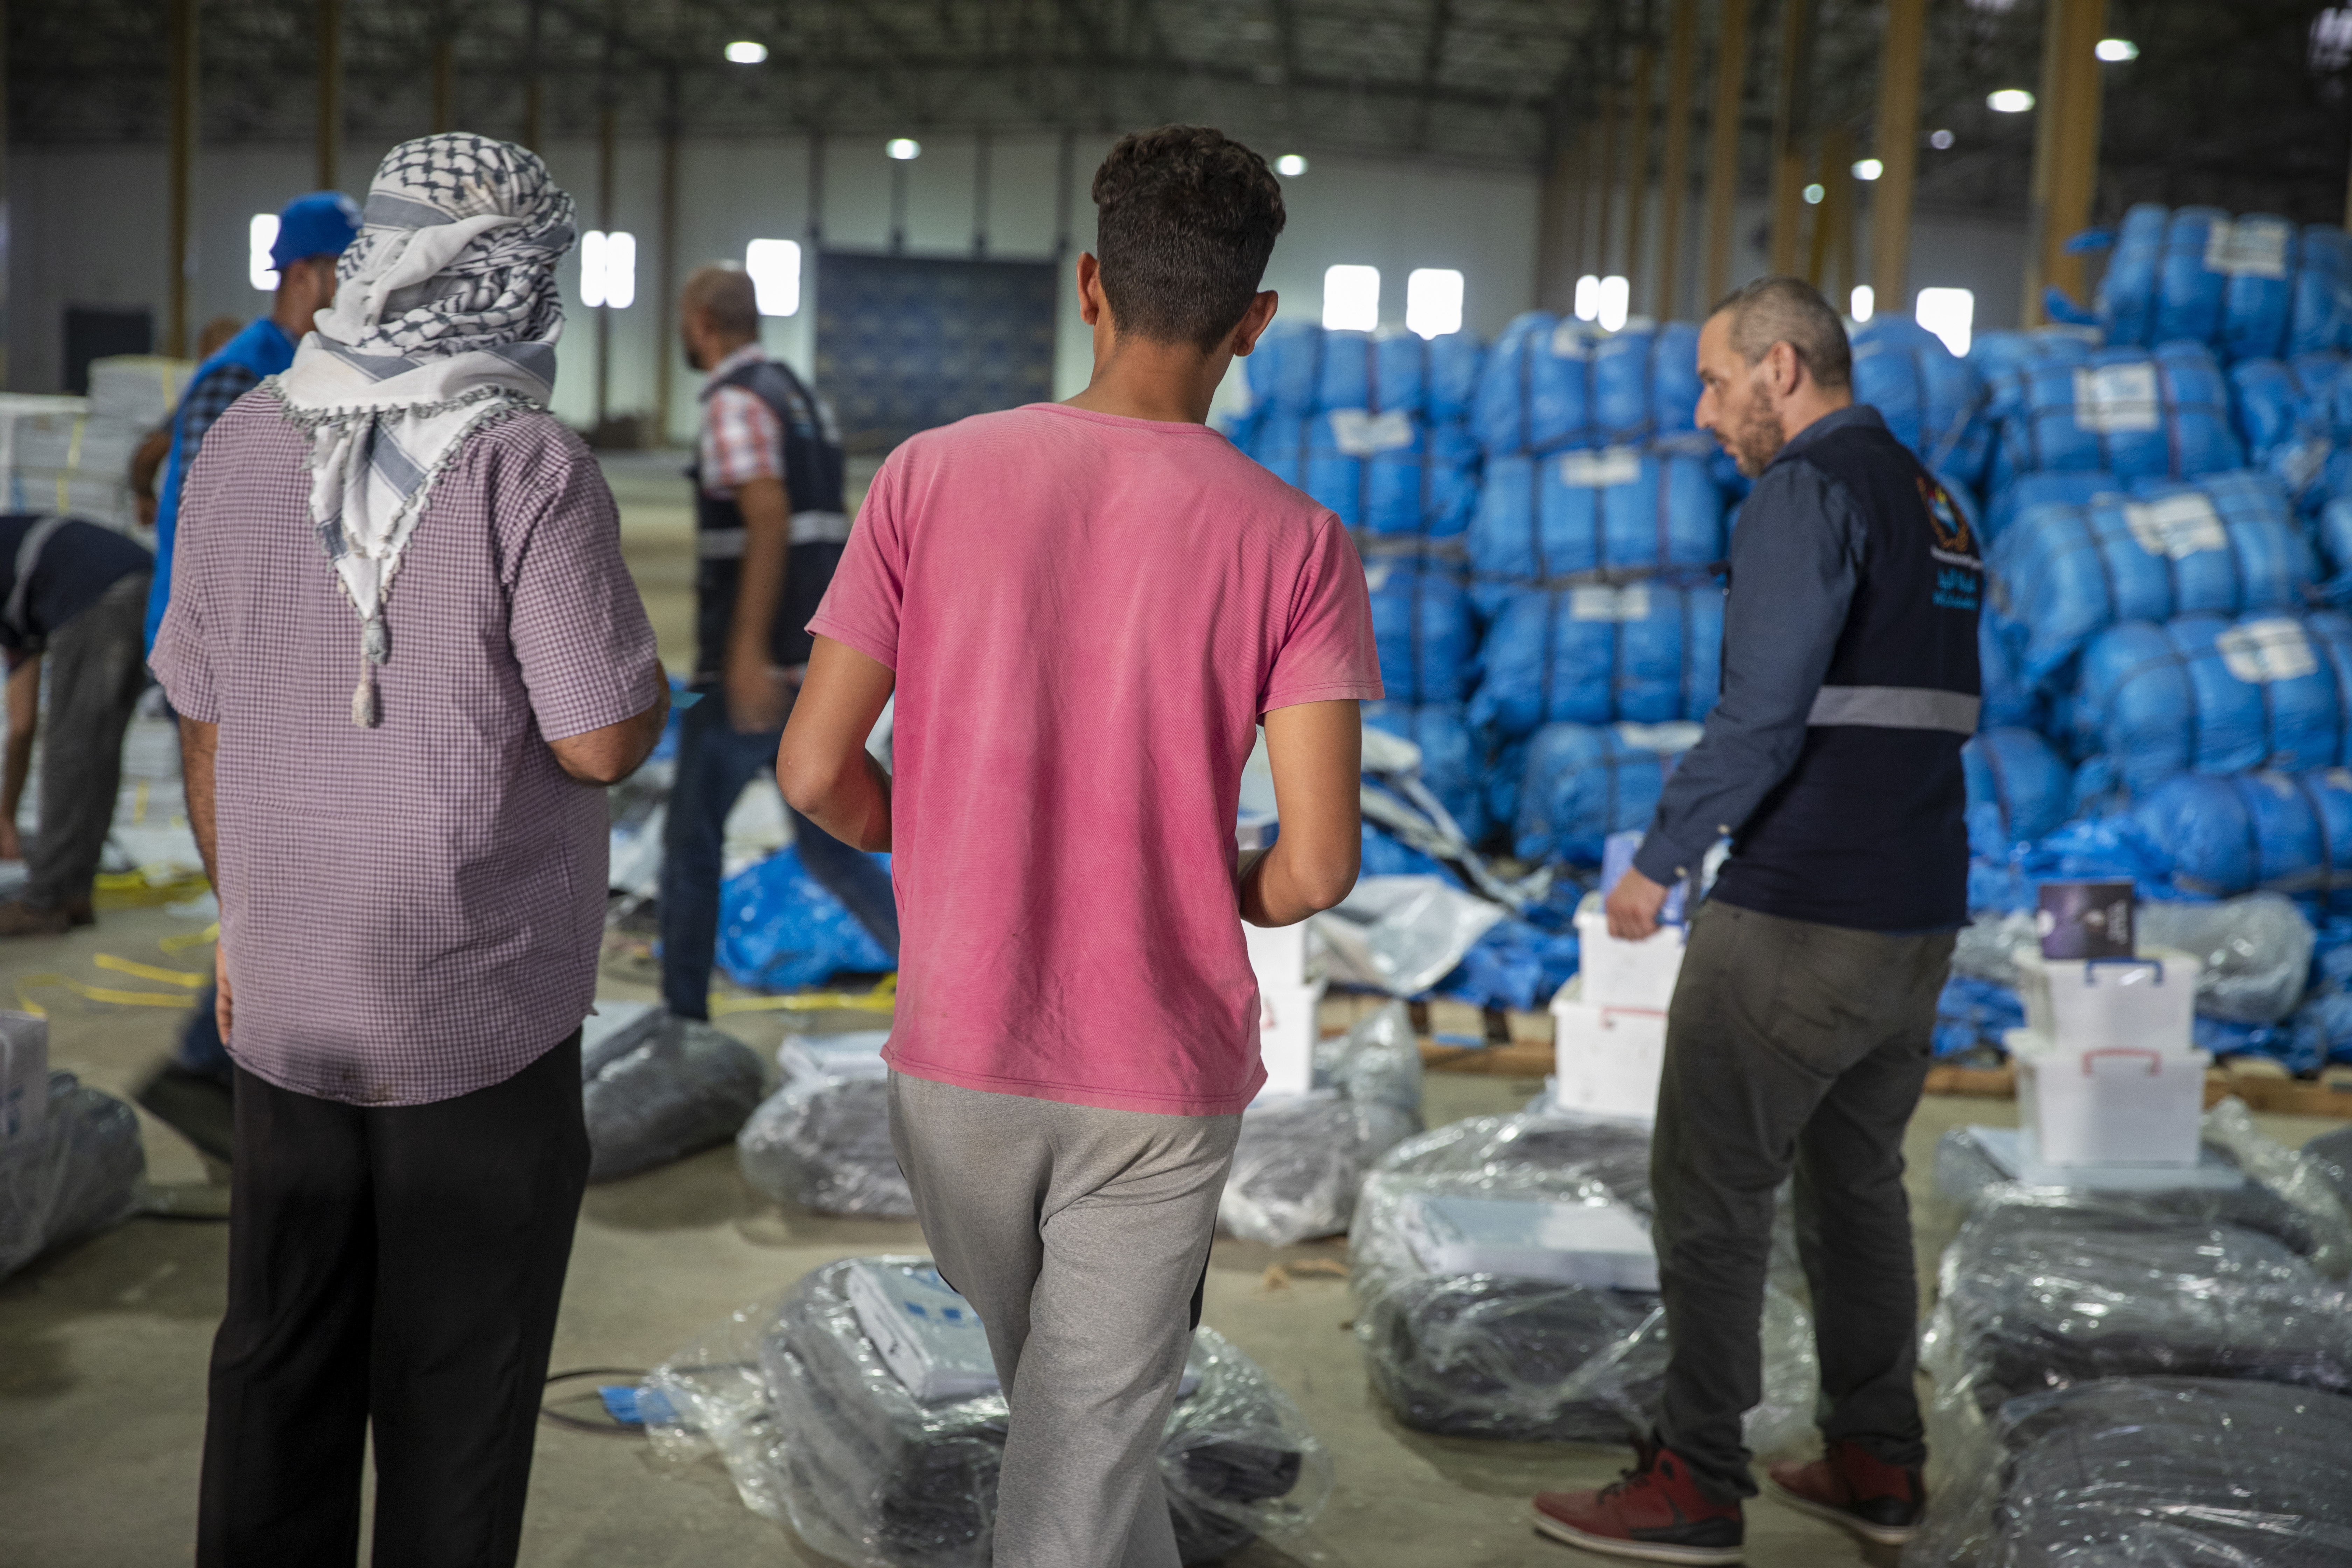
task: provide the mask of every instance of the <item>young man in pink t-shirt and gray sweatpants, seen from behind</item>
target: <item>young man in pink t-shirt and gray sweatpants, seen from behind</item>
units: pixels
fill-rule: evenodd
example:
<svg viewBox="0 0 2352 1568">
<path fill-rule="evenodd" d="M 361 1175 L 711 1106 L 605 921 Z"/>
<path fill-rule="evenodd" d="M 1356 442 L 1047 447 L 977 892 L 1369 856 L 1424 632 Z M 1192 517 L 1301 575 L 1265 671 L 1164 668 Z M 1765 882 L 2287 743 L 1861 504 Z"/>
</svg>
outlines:
<svg viewBox="0 0 2352 1568">
<path fill-rule="evenodd" d="M 894 856 L 891 1140 L 1011 1403 L 997 1568 L 1176 1568 L 1160 1429 L 1265 1081 L 1242 922 L 1355 886 L 1381 696 L 1338 517 L 1202 423 L 1275 315 L 1265 160 L 1134 134 L 1094 205 L 1094 381 L 889 456 L 776 762 L 797 811 Z M 1282 835 L 1242 865 L 1261 719 Z"/>
</svg>

